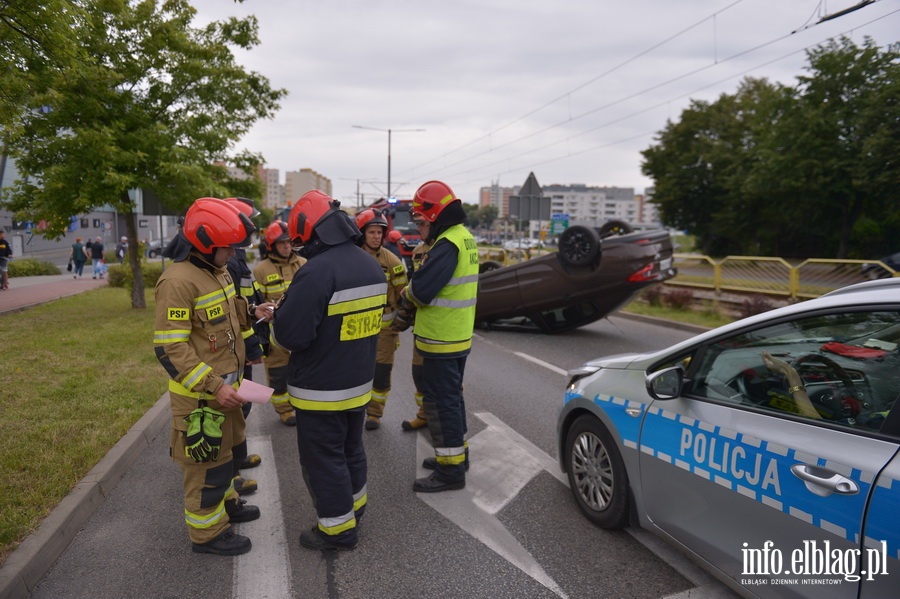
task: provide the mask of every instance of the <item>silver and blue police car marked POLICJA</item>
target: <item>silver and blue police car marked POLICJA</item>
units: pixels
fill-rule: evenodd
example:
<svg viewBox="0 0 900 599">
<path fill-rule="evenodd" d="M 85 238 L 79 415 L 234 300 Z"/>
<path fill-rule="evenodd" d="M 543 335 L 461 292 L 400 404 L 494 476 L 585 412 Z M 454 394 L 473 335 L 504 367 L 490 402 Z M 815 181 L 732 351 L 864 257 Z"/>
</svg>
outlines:
<svg viewBox="0 0 900 599">
<path fill-rule="evenodd" d="M 575 502 L 746 597 L 900 597 L 900 278 L 571 371 Z"/>
</svg>

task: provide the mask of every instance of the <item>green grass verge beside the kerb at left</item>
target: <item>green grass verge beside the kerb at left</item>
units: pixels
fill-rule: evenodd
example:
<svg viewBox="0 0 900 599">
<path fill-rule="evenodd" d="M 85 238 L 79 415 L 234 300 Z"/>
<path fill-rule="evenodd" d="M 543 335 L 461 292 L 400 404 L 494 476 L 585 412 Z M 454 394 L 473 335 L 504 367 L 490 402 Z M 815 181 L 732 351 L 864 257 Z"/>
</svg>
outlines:
<svg viewBox="0 0 900 599">
<path fill-rule="evenodd" d="M 0 563 L 165 392 L 154 309 L 104 287 L 0 316 Z"/>
</svg>

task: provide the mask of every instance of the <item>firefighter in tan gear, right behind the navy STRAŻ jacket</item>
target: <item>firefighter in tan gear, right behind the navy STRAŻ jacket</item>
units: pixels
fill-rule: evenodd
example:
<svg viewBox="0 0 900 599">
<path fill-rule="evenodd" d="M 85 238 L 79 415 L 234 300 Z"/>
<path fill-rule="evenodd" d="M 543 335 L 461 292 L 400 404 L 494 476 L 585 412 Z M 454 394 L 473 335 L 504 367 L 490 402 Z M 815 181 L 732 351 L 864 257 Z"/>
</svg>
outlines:
<svg viewBox="0 0 900 599">
<path fill-rule="evenodd" d="M 375 382 L 372 385 L 372 401 L 366 408 L 366 430 L 381 426 L 384 406 L 391 392 L 391 370 L 394 367 L 394 353 L 400 346 L 400 333 L 391 329 L 400 291 L 406 287 L 406 266 L 397 256 L 384 248 L 387 219 L 380 210 L 367 208 L 356 215 L 356 226 L 362 232 L 359 246 L 373 256 L 384 271 L 388 284 L 387 305 L 382 317 L 381 333 L 378 335 L 378 351 L 375 356 Z"/>
</svg>

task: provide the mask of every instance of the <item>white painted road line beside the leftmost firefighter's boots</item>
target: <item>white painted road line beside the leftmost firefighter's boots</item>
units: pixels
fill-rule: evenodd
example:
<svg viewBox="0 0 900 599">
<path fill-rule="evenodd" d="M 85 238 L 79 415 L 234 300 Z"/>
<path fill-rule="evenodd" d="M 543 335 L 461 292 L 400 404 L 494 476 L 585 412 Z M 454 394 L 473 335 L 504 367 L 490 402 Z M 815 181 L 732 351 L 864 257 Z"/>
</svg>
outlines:
<svg viewBox="0 0 900 599">
<path fill-rule="evenodd" d="M 248 496 L 261 514 L 259 520 L 235 525 L 238 533 L 250 537 L 253 549 L 235 558 L 232 595 L 290 597 L 291 565 L 272 439 L 268 435 L 247 437 L 247 445 L 250 453 L 262 456 L 262 463 L 253 469 L 259 491 Z"/>
</svg>

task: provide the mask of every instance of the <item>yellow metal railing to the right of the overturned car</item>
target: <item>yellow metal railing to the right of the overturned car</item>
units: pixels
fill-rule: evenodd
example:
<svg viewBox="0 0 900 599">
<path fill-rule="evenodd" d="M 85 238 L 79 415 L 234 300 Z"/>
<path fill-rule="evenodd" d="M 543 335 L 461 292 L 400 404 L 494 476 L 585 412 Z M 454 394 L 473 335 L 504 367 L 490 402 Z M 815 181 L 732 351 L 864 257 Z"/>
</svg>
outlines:
<svg viewBox="0 0 900 599">
<path fill-rule="evenodd" d="M 829 291 L 872 278 L 864 264 L 883 268 L 893 277 L 900 272 L 878 260 L 810 258 L 791 263 L 784 258 L 727 256 L 720 260 L 699 254 L 675 254 L 678 275 L 667 285 L 775 295 L 791 300 L 818 297 Z"/>
</svg>

